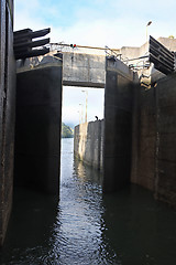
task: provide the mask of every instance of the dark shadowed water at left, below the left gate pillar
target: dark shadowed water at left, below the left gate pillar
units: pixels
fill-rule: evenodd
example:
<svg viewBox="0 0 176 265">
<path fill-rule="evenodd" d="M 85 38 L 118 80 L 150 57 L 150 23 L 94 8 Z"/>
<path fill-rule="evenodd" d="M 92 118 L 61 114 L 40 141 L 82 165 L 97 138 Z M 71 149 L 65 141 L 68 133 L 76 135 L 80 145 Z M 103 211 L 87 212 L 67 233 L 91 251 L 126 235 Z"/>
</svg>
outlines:
<svg viewBox="0 0 176 265">
<path fill-rule="evenodd" d="M 58 199 L 32 192 L 14 190 L 13 210 L 0 264 L 45 264 L 50 239 L 57 214 Z"/>
</svg>

